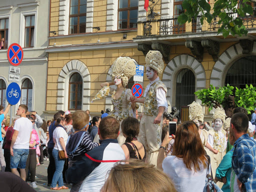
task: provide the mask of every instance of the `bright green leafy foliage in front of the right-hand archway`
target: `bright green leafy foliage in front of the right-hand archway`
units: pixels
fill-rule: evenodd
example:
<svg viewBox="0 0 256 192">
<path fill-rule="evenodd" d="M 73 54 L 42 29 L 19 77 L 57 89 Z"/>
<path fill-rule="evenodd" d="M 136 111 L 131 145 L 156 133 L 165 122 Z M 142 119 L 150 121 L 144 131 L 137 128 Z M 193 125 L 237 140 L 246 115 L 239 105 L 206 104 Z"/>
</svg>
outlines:
<svg viewBox="0 0 256 192">
<path fill-rule="evenodd" d="M 209 88 L 204 88 L 197 90 L 195 95 L 201 100 L 202 104 L 209 106 L 209 111 L 212 108 L 224 107 L 227 105 L 227 97 L 229 95 L 234 96 L 234 101 L 236 106 L 242 106 L 246 108 L 248 114 L 253 110 L 255 106 L 256 99 L 256 87 L 251 84 L 246 88 L 235 87 L 235 92 L 233 92 L 234 87 L 227 84 L 226 86 L 219 87 L 216 89 L 214 86 L 210 85 Z"/>
</svg>

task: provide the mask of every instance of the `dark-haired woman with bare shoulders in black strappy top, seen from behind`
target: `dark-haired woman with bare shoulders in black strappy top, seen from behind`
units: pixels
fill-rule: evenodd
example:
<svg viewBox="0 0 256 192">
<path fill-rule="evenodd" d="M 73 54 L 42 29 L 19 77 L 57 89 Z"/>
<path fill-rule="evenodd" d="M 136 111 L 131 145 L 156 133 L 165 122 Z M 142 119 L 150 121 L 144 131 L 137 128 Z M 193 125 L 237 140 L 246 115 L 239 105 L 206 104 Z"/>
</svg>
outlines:
<svg viewBox="0 0 256 192">
<path fill-rule="evenodd" d="M 128 116 L 122 121 L 121 129 L 125 137 L 125 142 L 121 145 L 125 159 L 135 158 L 145 161 L 146 149 L 144 145 L 137 140 L 139 133 L 138 119 Z"/>
</svg>

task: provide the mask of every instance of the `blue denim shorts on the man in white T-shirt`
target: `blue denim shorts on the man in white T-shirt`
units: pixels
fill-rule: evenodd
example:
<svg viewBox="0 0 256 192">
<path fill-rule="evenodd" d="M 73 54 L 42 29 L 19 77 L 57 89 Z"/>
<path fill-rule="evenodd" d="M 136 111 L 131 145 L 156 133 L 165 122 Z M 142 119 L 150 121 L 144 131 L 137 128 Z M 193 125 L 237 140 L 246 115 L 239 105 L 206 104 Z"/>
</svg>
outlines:
<svg viewBox="0 0 256 192">
<path fill-rule="evenodd" d="M 25 168 L 29 149 L 13 148 L 13 156 L 10 155 L 10 168 Z"/>
</svg>

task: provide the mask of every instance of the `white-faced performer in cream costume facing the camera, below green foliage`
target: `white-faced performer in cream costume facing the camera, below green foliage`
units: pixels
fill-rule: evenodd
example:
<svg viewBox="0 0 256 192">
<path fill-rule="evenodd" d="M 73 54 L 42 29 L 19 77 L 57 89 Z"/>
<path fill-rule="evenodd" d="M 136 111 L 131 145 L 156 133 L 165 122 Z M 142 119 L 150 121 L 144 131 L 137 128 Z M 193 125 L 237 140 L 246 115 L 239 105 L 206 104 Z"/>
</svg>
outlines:
<svg viewBox="0 0 256 192">
<path fill-rule="evenodd" d="M 223 130 L 225 117 L 225 110 L 217 107 L 212 116 L 214 127 L 208 131 L 208 143 L 213 147 L 213 149 L 218 150 L 217 154 L 213 154 L 216 168 L 226 153 L 226 131 Z"/>
</svg>

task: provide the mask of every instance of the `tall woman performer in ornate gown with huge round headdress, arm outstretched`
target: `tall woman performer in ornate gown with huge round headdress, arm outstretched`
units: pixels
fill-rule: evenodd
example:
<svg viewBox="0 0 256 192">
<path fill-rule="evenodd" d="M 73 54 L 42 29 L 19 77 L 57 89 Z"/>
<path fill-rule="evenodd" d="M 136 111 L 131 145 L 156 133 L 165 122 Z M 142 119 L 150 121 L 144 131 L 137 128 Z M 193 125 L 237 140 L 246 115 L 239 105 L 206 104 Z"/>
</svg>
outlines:
<svg viewBox="0 0 256 192">
<path fill-rule="evenodd" d="M 91 102 L 111 95 L 113 110 L 110 111 L 108 116 L 116 118 L 121 124 L 121 121 L 125 117 L 136 116 L 136 103 L 131 103 L 129 100 L 130 96 L 132 96 L 131 90 L 129 88 L 125 88 L 128 84 L 129 78 L 136 73 L 134 59 L 127 56 L 118 57 L 112 64 L 112 71 L 112 82 L 101 83 L 101 90 L 94 96 Z M 116 85 L 117 89 L 110 87 L 110 85 Z M 125 137 L 122 135 L 121 129 L 117 140 L 120 145 L 125 141 Z"/>
</svg>

